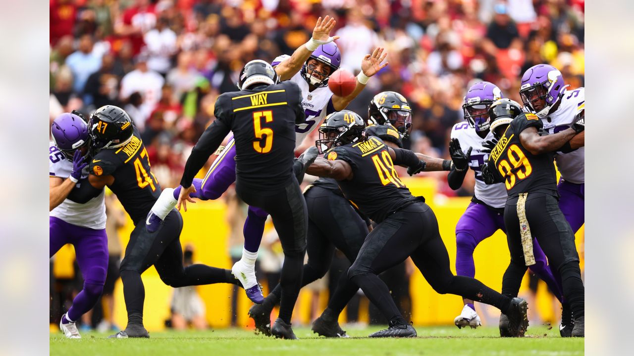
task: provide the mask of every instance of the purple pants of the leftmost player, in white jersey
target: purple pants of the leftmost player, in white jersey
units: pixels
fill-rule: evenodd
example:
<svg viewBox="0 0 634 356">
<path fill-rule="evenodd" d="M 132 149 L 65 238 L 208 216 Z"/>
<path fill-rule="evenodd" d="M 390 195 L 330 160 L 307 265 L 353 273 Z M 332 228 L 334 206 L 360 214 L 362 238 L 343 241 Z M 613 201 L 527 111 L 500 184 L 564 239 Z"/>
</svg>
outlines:
<svg viewBox="0 0 634 356">
<path fill-rule="evenodd" d="M 96 230 L 68 224 L 49 217 L 49 258 L 67 243 L 75 246 L 75 259 L 84 276 L 84 289 L 68 309 L 68 319 L 78 321 L 98 302 L 108 270 L 108 237 L 106 229 Z"/>
</svg>

